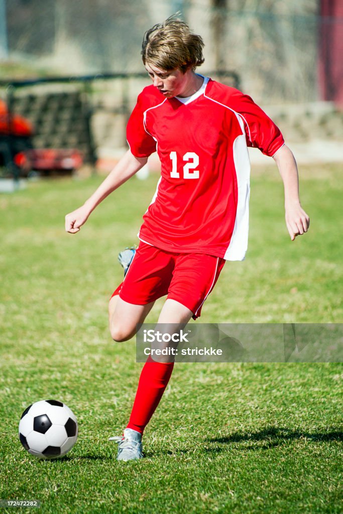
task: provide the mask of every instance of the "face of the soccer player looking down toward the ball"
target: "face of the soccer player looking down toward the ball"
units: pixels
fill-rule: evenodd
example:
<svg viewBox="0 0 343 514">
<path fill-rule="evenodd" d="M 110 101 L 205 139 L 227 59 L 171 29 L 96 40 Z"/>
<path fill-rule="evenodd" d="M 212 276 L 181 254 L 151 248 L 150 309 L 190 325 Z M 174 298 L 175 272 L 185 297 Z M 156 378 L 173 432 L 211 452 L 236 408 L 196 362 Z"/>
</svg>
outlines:
<svg viewBox="0 0 343 514">
<path fill-rule="evenodd" d="M 172 98 L 174 96 L 188 96 L 189 88 L 189 73 L 183 73 L 180 69 L 165 70 L 157 68 L 153 64 L 146 63 L 146 70 L 149 73 L 153 84 L 157 89 L 166 97 Z"/>
</svg>

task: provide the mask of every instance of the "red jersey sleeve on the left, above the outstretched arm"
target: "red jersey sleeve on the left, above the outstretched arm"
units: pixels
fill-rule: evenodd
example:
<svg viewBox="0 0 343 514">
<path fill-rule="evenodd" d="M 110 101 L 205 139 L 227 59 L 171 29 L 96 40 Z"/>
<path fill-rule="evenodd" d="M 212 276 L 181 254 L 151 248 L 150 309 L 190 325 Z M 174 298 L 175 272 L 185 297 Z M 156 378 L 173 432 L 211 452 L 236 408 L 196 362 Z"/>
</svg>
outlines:
<svg viewBox="0 0 343 514">
<path fill-rule="evenodd" d="M 156 151 L 155 139 L 145 130 L 144 113 L 149 107 L 146 105 L 143 93 L 138 96 L 127 124 L 127 140 L 132 155 L 135 157 L 149 157 Z"/>
</svg>

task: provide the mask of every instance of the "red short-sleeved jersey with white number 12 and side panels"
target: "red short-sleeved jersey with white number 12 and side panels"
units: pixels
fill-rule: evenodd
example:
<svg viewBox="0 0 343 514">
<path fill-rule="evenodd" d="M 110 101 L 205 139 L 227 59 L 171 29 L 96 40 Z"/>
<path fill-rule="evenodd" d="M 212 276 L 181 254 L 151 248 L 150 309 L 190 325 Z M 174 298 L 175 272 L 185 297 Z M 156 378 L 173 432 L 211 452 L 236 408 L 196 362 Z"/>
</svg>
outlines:
<svg viewBox="0 0 343 514">
<path fill-rule="evenodd" d="M 161 250 L 245 257 L 249 228 L 247 146 L 273 156 L 279 128 L 237 89 L 205 78 L 188 98 L 143 89 L 127 126 L 132 154 L 161 161 L 152 202 L 138 237 Z"/>
</svg>

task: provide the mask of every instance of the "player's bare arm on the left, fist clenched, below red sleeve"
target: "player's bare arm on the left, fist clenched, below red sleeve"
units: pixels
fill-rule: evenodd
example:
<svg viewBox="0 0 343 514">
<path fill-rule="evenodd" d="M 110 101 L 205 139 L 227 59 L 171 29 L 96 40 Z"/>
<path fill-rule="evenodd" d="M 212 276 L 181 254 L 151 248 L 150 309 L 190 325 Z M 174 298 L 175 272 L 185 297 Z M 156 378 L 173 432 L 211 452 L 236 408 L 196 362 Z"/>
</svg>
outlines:
<svg viewBox="0 0 343 514">
<path fill-rule="evenodd" d="M 137 173 L 137 171 L 146 164 L 147 160 L 147 157 L 135 157 L 130 150 L 128 150 L 92 196 L 90 196 L 81 207 L 65 216 L 66 232 L 70 232 L 70 234 L 79 232 L 80 227 L 86 223 L 89 214 L 94 211 L 97 205 L 99 205 L 106 196 Z"/>
</svg>

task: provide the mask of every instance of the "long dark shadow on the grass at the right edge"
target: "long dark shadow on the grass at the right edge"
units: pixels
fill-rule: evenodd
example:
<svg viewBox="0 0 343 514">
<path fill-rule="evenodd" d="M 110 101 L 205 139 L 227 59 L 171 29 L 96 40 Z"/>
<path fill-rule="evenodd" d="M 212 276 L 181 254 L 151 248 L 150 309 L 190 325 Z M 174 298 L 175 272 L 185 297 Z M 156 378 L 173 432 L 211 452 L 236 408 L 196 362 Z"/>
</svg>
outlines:
<svg viewBox="0 0 343 514">
<path fill-rule="evenodd" d="M 306 432 L 303 430 L 290 430 L 288 428 L 266 427 L 259 432 L 236 432 L 227 437 L 213 437 L 206 439 L 209 443 L 239 443 L 242 441 L 265 441 L 266 446 L 278 446 L 287 440 L 311 439 L 312 441 L 342 441 L 343 432 L 333 428 L 330 432 Z"/>
</svg>

